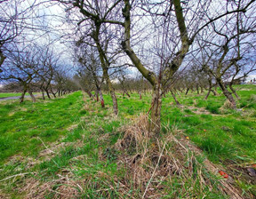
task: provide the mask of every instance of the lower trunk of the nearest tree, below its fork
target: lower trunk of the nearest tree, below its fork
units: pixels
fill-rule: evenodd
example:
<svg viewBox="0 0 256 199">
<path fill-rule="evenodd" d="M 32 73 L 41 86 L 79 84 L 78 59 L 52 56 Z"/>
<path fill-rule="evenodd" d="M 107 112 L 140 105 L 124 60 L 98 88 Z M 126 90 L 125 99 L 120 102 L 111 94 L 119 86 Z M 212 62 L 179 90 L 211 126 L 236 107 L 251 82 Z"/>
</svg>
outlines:
<svg viewBox="0 0 256 199">
<path fill-rule="evenodd" d="M 161 131 L 161 107 L 162 107 L 162 95 L 159 85 L 154 86 L 153 98 L 151 103 L 151 114 L 148 123 L 148 130 L 153 132 L 156 137 L 159 136 Z"/>
</svg>

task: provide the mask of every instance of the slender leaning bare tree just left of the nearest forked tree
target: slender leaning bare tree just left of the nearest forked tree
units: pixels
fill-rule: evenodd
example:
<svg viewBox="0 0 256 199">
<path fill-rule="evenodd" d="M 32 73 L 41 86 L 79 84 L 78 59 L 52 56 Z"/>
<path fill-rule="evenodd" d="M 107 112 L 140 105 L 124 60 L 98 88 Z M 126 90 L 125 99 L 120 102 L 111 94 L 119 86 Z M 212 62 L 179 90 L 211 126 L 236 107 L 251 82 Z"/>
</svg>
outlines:
<svg viewBox="0 0 256 199">
<path fill-rule="evenodd" d="M 109 68 L 111 64 L 115 63 L 115 57 L 118 54 L 115 52 L 115 44 L 113 39 L 115 39 L 116 34 L 119 30 L 109 27 L 109 24 L 119 23 L 115 20 L 108 20 L 115 16 L 116 5 L 121 3 L 118 1 L 59 1 L 62 4 L 68 6 L 68 12 L 72 17 L 72 14 L 76 14 L 76 19 L 78 19 L 78 30 L 76 33 L 81 33 L 78 44 L 90 44 L 94 45 L 97 49 L 100 57 L 100 66 L 102 68 L 102 73 L 104 80 L 108 85 L 108 91 L 110 92 L 113 109 L 115 115 L 118 113 L 116 93 L 114 91 L 113 85 L 109 77 Z M 74 12 L 72 12 L 74 10 Z M 79 15 L 77 14 L 79 11 Z M 113 62 L 114 61 L 114 62 Z"/>
</svg>

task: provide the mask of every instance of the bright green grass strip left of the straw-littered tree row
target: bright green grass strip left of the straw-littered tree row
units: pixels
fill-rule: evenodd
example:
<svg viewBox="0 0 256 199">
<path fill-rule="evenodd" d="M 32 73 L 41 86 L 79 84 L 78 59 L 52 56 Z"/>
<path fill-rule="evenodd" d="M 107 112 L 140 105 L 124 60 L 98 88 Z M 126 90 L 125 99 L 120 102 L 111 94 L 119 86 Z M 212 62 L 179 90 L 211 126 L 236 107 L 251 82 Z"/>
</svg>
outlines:
<svg viewBox="0 0 256 199">
<path fill-rule="evenodd" d="M 67 127 L 80 121 L 79 93 L 52 101 L 5 102 L 0 107 L 0 163 L 11 155 L 37 155 L 45 142 L 68 133 Z M 72 104 L 70 104 L 72 102 Z M 40 138 L 40 139 L 38 139 Z"/>
</svg>

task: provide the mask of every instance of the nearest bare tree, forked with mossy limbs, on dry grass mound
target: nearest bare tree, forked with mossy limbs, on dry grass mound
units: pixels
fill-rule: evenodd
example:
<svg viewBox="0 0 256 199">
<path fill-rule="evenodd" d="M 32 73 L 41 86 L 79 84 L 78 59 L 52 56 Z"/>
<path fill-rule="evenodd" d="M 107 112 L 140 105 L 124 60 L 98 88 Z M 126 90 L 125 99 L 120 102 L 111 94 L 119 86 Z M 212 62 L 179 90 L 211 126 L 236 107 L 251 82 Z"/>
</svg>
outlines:
<svg viewBox="0 0 256 199">
<path fill-rule="evenodd" d="M 134 2 L 132 2 L 132 3 L 134 4 Z M 154 88 L 152 104 L 151 104 L 151 118 L 150 118 L 151 123 L 149 123 L 149 131 L 155 132 L 156 135 L 159 134 L 160 126 L 161 126 L 160 125 L 160 114 L 161 114 L 161 105 L 162 105 L 162 100 L 161 100 L 162 95 L 164 93 L 166 85 L 168 85 L 169 81 L 172 81 L 172 76 L 180 68 L 186 54 L 188 53 L 189 46 L 191 46 L 194 43 L 195 38 L 198 35 L 198 33 L 200 33 L 200 31 L 202 31 L 204 28 L 208 27 L 214 21 L 221 20 L 222 18 L 229 16 L 232 13 L 246 12 L 246 9 L 250 5 L 252 5 L 252 3 L 253 3 L 253 1 L 244 2 L 243 5 L 240 4 L 239 7 L 232 8 L 231 11 L 229 11 L 227 9 L 226 10 L 227 12 L 214 13 L 214 15 L 210 17 L 207 14 L 207 12 L 211 11 L 211 10 L 207 10 L 207 6 L 209 4 L 211 4 L 209 2 L 198 2 L 196 4 L 196 7 L 194 6 L 192 8 L 186 7 L 188 5 L 192 6 L 192 4 L 187 4 L 186 2 L 183 4 L 180 2 L 180 0 L 173 0 L 171 4 L 165 2 L 165 5 L 169 9 L 165 9 L 164 11 L 167 10 L 170 12 L 167 12 L 167 13 L 164 12 L 164 14 L 162 12 L 162 15 L 164 15 L 164 17 L 167 16 L 165 18 L 166 19 L 165 21 L 167 21 L 167 25 L 165 26 L 166 28 L 165 28 L 165 32 L 163 34 L 164 42 L 162 43 L 162 46 L 164 44 L 166 44 L 166 40 L 168 42 L 172 41 L 172 36 L 175 38 L 175 35 L 174 35 L 175 30 L 169 31 L 169 30 L 171 30 L 169 28 L 170 26 L 172 26 L 172 27 L 174 26 L 179 29 L 180 43 L 175 44 L 176 49 L 178 49 L 178 50 L 176 50 L 174 48 L 174 51 L 176 50 L 175 53 L 169 52 L 172 54 L 172 56 L 169 56 L 166 59 L 164 59 L 164 53 L 162 53 L 162 54 L 160 53 L 161 62 L 160 62 L 158 74 L 156 74 L 154 71 L 148 70 L 148 68 L 146 68 L 145 65 L 143 65 L 143 63 L 140 60 L 140 58 L 138 57 L 138 55 L 132 50 L 132 46 L 131 46 L 132 4 L 130 3 L 129 0 L 124 0 L 124 9 L 123 9 L 124 40 L 122 43 L 124 52 L 126 52 L 128 57 L 132 60 L 132 63 L 135 65 L 135 67 L 138 68 L 138 70 L 140 71 L 142 76 L 144 76 L 146 79 L 148 79 L 148 82 L 150 82 L 150 84 L 152 84 L 152 86 Z M 187 9 L 182 8 L 182 4 Z M 150 6 L 150 5 L 156 7 L 156 4 L 148 4 L 148 6 Z M 163 6 L 163 5 L 164 5 L 164 2 L 163 2 L 163 4 L 161 4 L 161 6 Z M 205 7 L 206 7 L 206 9 L 205 9 Z M 252 9 L 252 6 L 250 8 Z M 196 10 L 194 10 L 194 9 L 196 9 Z M 202 12 L 198 12 L 198 11 L 200 11 L 200 9 L 202 10 Z M 133 10 L 134 10 L 134 8 L 133 8 Z M 156 8 L 155 8 L 155 10 L 157 11 Z M 163 11 L 163 10 L 160 10 L 160 11 Z M 174 16 L 172 15 L 172 11 L 174 12 Z M 150 12 L 150 9 L 149 9 L 149 12 Z M 193 24 L 193 21 L 186 20 L 186 15 L 188 16 L 188 12 L 191 12 L 190 13 L 191 16 L 195 16 L 196 19 L 199 19 L 199 20 L 197 20 L 197 22 L 200 21 L 200 23 L 197 23 L 197 28 L 196 28 L 195 21 L 194 21 L 194 26 L 195 26 L 194 28 L 191 28 L 191 27 L 193 27 L 192 25 L 190 27 L 188 27 L 186 25 L 186 21 L 187 21 L 188 25 L 190 23 Z M 150 13 L 152 13 L 152 12 L 150 12 Z M 184 15 L 184 13 L 185 13 L 185 15 Z M 204 13 L 204 14 L 202 14 L 202 13 Z M 157 13 L 155 13 L 155 15 L 157 15 Z M 207 18 L 205 19 L 204 16 L 208 17 L 208 19 Z M 188 19 L 188 17 L 187 17 L 187 19 Z M 228 23 L 228 21 L 227 21 L 227 23 Z M 200 25 L 199 27 L 198 27 L 198 24 Z M 227 24 L 227 26 L 228 26 L 228 24 Z M 190 31 L 190 32 L 188 32 L 188 31 Z M 173 35 L 170 35 L 170 32 Z M 163 48 L 164 48 L 164 52 L 167 51 L 167 53 L 168 53 L 168 46 L 167 46 L 167 48 L 165 48 L 165 47 L 163 47 Z"/>
</svg>

